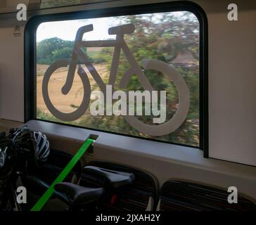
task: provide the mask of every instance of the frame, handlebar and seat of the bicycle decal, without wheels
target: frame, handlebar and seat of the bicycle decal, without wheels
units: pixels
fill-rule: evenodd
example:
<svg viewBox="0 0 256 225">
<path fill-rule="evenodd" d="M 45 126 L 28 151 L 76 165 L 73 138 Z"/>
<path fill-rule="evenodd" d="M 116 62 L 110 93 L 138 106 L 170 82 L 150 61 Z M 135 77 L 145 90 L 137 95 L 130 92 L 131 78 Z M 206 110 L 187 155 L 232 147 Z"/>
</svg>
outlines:
<svg viewBox="0 0 256 225">
<path fill-rule="evenodd" d="M 110 77 L 108 80 L 108 84 L 113 86 L 113 91 L 115 91 L 115 82 L 116 82 L 116 77 L 118 72 L 118 64 L 120 61 L 121 50 L 124 52 L 124 56 L 127 58 L 128 63 L 131 67 L 122 76 L 119 87 L 124 88 L 125 86 L 127 86 L 129 79 L 132 77 L 132 75 L 137 75 L 139 82 L 143 86 L 143 89 L 148 91 L 154 90 L 153 86 L 151 86 L 151 83 L 143 74 L 139 64 L 136 62 L 136 59 L 134 58 L 131 51 L 129 50 L 129 47 L 124 41 L 124 34 L 134 32 L 135 30 L 134 25 L 122 25 L 118 27 L 111 27 L 108 30 L 108 33 L 116 34 L 115 40 L 82 41 L 82 37 L 84 33 L 90 32 L 92 30 L 94 30 L 93 25 L 87 25 L 79 28 L 79 30 L 77 31 L 77 35 L 75 38 L 74 51 L 72 53 L 72 59 L 70 61 L 70 68 L 68 70 L 67 80 L 62 89 L 63 94 L 68 94 L 68 92 L 72 87 L 72 83 L 75 76 L 75 69 L 76 69 L 79 58 L 82 59 L 82 62 L 84 63 L 84 65 L 86 65 L 92 77 L 94 77 L 94 80 L 100 87 L 101 91 L 105 93 L 105 84 L 101 79 L 101 76 L 98 75 L 98 72 L 94 68 L 94 65 L 90 62 L 88 56 L 82 52 L 82 48 L 89 48 L 89 47 L 114 47 L 115 48 L 113 53 L 113 60 L 110 68 Z"/>
</svg>

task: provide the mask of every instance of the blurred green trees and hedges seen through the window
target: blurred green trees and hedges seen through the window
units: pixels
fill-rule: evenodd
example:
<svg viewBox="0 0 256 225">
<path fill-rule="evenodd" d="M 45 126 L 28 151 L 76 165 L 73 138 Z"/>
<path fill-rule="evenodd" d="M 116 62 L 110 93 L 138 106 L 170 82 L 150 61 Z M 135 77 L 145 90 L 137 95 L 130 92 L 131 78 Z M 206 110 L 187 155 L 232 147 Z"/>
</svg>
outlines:
<svg viewBox="0 0 256 225">
<path fill-rule="evenodd" d="M 125 41 L 142 68 L 142 60 L 158 59 L 172 65 L 172 60 L 179 53 L 191 51 L 195 60 L 198 60 L 199 47 L 199 25 L 196 17 L 184 12 L 177 16 L 167 13 L 165 16 L 153 18 L 152 15 L 129 15 L 120 19 L 120 25 L 133 23 L 136 27 L 135 34 L 125 35 Z M 60 58 L 71 58 L 73 48 L 72 41 L 63 41 L 58 38 L 46 39 L 37 46 L 37 62 L 41 64 L 51 64 Z M 101 51 L 87 51 L 87 55 L 92 63 L 105 63 L 110 70 L 113 58 L 113 48 L 103 48 Z M 124 53 L 121 53 L 119 70 L 117 74 L 117 84 L 124 72 L 129 68 Z M 114 131 L 120 134 L 148 137 L 173 143 L 182 143 L 191 146 L 199 145 L 199 67 L 198 65 L 174 65 L 184 77 L 190 91 L 190 109 L 186 121 L 172 134 L 165 136 L 147 136 L 139 133 L 131 127 L 120 116 L 97 116 L 92 117 L 89 110 L 79 120 L 72 122 L 82 127 L 91 127 L 106 131 Z M 167 120 L 172 118 L 177 110 L 179 98 L 177 90 L 172 81 L 161 72 L 152 70 L 144 71 L 146 77 L 151 82 L 155 90 L 167 90 Z M 143 90 L 136 75 L 134 75 L 127 86 L 127 90 Z M 71 105 L 77 108 L 77 105 Z M 37 112 L 37 117 L 44 120 L 56 121 L 55 117 L 50 117 L 46 113 Z M 46 118 L 46 119 L 45 119 Z M 152 117 L 138 117 L 139 120 L 152 124 Z"/>
</svg>

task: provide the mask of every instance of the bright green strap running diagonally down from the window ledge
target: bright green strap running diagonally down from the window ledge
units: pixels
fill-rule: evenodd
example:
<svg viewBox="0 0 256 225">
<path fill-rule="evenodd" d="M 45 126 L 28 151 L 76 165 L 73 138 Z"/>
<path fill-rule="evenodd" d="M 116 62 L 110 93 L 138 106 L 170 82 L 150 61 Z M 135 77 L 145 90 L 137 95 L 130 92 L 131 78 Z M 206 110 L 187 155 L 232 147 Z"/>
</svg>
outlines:
<svg viewBox="0 0 256 225">
<path fill-rule="evenodd" d="M 65 177 L 68 175 L 68 173 L 71 171 L 71 169 L 73 167 L 75 167 L 78 160 L 82 157 L 82 155 L 84 155 L 86 150 L 89 148 L 89 146 L 91 146 L 91 143 L 93 143 L 93 142 L 94 142 L 93 139 L 87 139 L 87 141 L 84 141 L 81 148 L 79 148 L 79 150 L 74 155 L 72 160 L 70 160 L 68 165 L 66 165 L 66 167 L 63 169 L 63 171 L 60 172 L 60 174 L 58 175 L 56 180 L 53 181 L 51 186 L 47 189 L 47 191 L 44 193 L 44 195 L 42 195 L 41 198 L 39 198 L 37 203 L 34 205 L 34 207 L 32 207 L 32 209 L 30 211 L 40 211 L 41 208 L 44 207 L 44 204 L 49 200 L 49 198 L 51 198 L 51 195 L 53 195 L 53 193 L 54 193 L 54 186 L 57 183 L 60 183 L 65 179 Z"/>
</svg>

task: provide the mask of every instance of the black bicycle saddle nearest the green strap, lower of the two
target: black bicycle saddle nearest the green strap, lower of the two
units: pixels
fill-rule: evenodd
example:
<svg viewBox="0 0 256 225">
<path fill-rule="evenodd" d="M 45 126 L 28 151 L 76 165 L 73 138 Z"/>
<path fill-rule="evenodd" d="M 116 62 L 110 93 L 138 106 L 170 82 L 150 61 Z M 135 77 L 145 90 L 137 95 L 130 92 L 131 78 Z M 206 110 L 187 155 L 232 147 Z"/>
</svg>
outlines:
<svg viewBox="0 0 256 225">
<path fill-rule="evenodd" d="M 54 188 L 56 191 L 68 195 L 70 203 L 74 205 L 94 203 L 103 195 L 103 188 L 87 188 L 68 182 L 58 183 Z"/>
</svg>

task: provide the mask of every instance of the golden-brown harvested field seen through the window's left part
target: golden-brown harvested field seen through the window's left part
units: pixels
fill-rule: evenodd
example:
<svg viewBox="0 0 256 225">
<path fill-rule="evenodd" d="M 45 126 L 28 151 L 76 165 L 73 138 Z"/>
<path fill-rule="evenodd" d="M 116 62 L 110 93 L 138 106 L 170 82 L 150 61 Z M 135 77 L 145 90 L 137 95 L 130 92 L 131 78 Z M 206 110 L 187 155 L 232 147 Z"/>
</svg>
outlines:
<svg viewBox="0 0 256 225">
<path fill-rule="evenodd" d="M 41 93 L 41 85 L 44 77 L 43 75 L 48 66 L 49 65 L 37 65 L 37 108 L 39 108 L 39 110 L 41 110 L 43 113 L 49 113 Z M 101 79 L 103 79 L 103 81 L 108 79 L 109 72 L 105 63 L 95 64 L 94 67 L 98 71 L 98 74 L 101 75 Z M 83 66 L 83 68 L 84 71 L 87 72 L 89 81 L 91 83 L 91 89 L 93 89 L 93 86 L 96 86 L 96 82 L 94 81 L 93 77 L 91 77 L 91 74 L 87 68 L 85 66 Z M 75 74 L 75 79 L 70 92 L 67 95 L 63 95 L 61 93 L 61 88 L 63 84 L 65 84 L 67 74 L 68 68 L 60 68 L 53 73 L 49 82 L 49 96 L 51 98 L 51 102 L 63 113 L 71 113 L 74 111 L 76 107 L 81 104 L 82 96 L 84 94 L 82 82 L 77 75 L 77 72 Z"/>
</svg>

